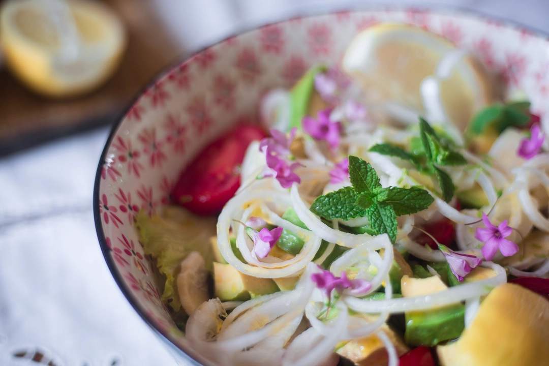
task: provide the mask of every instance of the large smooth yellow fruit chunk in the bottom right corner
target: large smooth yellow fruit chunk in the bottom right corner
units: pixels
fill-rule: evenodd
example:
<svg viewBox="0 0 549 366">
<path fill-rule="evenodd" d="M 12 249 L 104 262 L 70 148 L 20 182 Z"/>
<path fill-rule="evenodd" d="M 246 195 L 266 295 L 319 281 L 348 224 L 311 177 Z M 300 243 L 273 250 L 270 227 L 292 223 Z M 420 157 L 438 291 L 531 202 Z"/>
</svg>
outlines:
<svg viewBox="0 0 549 366">
<path fill-rule="evenodd" d="M 436 351 L 442 366 L 549 365 L 549 301 L 519 285 L 497 286 L 460 339 Z"/>
</svg>

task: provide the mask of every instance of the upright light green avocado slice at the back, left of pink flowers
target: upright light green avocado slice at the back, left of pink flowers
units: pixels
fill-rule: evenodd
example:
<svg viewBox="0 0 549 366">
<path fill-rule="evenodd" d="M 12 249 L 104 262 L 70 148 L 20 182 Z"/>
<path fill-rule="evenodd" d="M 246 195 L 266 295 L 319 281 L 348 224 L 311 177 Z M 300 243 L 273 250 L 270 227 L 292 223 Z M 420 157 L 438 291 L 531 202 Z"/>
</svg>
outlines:
<svg viewBox="0 0 549 366">
<path fill-rule="evenodd" d="M 290 99 L 292 100 L 292 114 L 290 115 L 290 126 L 288 129 L 297 127 L 301 129 L 301 119 L 313 112 L 312 105 L 324 104 L 322 99 L 317 100 L 318 97 L 313 98 L 315 91 L 315 75 L 319 72 L 326 70 L 326 66 L 316 65 L 312 66 L 305 75 L 301 76 L 298 82 L 295 83 L 292 91 L 290 91 Z M 316 103 L 311 103 L 312 99 L 315 99 Z M 322 103 L 319 103 L 322 102 Z M 325 108 L 325 106 L 324 106 Z M 317 106 L 314 109 L 322 109 L 322 106 Z M 316 115 L 316 112 L 315 112 Z"/>
</svg>

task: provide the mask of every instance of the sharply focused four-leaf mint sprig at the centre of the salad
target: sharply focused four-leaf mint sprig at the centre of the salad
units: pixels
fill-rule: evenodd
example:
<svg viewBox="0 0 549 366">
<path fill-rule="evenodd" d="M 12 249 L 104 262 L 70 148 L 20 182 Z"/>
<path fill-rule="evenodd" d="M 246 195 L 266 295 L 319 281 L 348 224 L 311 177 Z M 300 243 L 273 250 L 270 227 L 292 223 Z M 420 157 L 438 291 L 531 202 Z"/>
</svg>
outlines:
<svg viewBox="0 0 549 366">
<path fill-rule="evenodd" d="M 366 216 L 376 235 L 389 234 L 394 243 L 396 217 L 425 210 L 434 201 L 429 192 L 419 187 L 383 188 L 376 170 L 356 156 L 349 156 L 349 177 L 351 187 L 318 196 L 312 202 L 311 212 L 327 219 Z"/>
</svg>

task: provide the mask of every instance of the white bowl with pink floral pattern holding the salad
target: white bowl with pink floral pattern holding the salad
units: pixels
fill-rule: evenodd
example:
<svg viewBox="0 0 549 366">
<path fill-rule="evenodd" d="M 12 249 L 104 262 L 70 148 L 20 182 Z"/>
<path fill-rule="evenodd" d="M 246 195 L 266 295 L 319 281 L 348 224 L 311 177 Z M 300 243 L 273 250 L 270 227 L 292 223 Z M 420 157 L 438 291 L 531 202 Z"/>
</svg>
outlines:
<svg viewBox="0 0 549 366">
<path fill-rule="evenodd" d="M 265 91 L 293 85 L 313 64 L 336 63 L 358 31 L 383 21 L 425 27 L 476 54 L 503 75 L 508 93 L 525 95 L 549 125 L 547 36 L 472 14 L 409 9 L 296 18 L 228 38 L 172 67 L 113 127 L 97 171 L 94 213 L 120 289 L 178 359 L 205 363 L 160 300 L 152 262 L 133 227 L 136 212 L 152 214 L 169 203 L 182 168 L 232 126 L 256 120 Z"/>
</svg>

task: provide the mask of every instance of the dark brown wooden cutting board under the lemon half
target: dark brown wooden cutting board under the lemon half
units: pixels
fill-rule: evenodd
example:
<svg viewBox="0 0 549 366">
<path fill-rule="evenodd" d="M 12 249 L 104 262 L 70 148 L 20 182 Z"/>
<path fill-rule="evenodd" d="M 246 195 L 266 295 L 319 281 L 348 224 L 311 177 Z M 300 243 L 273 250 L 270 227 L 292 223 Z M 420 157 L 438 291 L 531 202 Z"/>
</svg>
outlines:
<svg viewBox="0 0 549 366">
<path fill-rule="evenodd" d="M 172 40 L 147 0 L 105 0 L 128 31 L 119 69 L 97 91 L 53 100 L 26 89 L 0 69 L 0 156 L 48 140 L 115 122 L 128 103 L 183 49 Z"/>
</svg>

